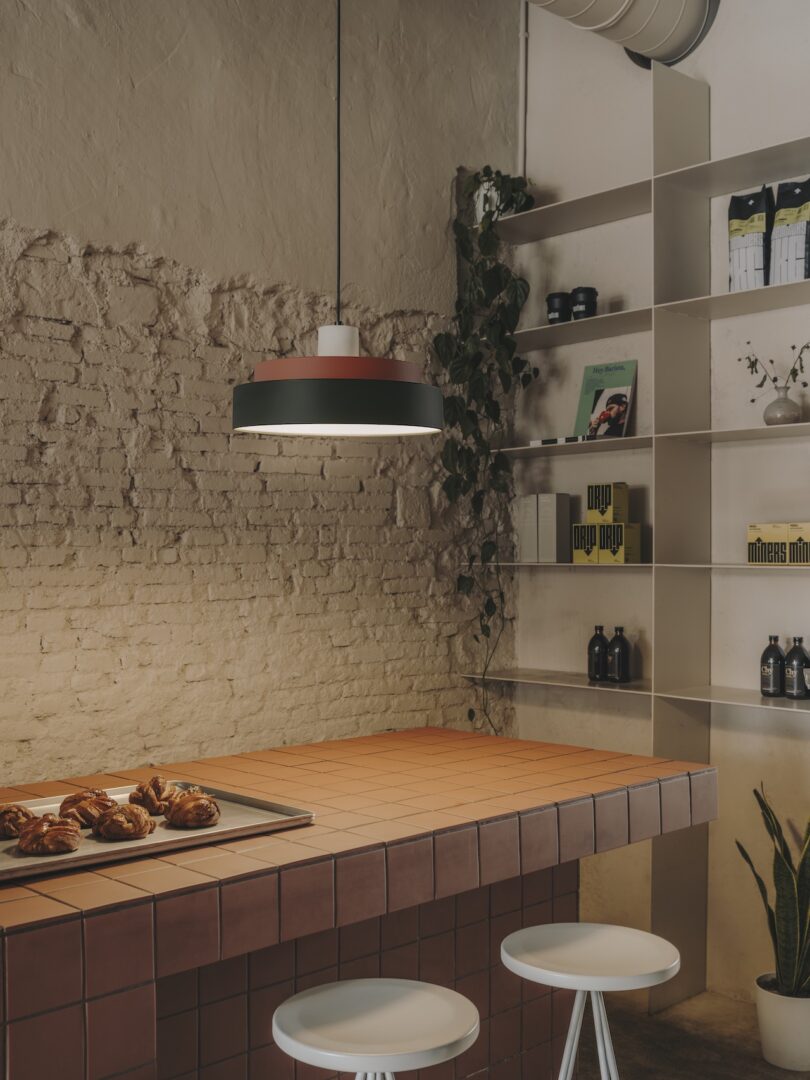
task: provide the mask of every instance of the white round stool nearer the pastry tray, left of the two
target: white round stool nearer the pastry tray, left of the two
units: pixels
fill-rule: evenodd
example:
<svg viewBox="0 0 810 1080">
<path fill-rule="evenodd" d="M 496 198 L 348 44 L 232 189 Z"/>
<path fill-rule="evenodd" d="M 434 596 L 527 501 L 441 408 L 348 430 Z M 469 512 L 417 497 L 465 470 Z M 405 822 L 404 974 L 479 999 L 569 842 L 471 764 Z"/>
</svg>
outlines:
<svg viewBox="0 0 810 1080">
<path fill-rule="evenodd" d="M 408 978 L 353 978 L 296 994 L 275 1010 L 273 1038 L 306 1065 L 393 1080 L 394 1070 L 450 1061 L 478 1037 L 478 1010 L 455 990 Z"/>
</svg>

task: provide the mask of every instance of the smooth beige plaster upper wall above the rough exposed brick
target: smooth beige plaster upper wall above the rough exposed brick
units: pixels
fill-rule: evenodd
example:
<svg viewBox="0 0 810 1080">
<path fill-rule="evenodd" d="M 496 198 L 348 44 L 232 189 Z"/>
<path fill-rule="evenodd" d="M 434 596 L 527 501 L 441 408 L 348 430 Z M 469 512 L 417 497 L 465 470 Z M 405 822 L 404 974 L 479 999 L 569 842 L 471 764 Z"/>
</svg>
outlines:
<svg viewBox="0 0 810 1080">
<path fill-rule="evenodd" d="M 461 164 L 512 163 L 516 0 L 345 0 L 349 298 L 450 310 Z M 0 5 L 0 217 L 332 294 L 335 4 Z"/>
</svg>

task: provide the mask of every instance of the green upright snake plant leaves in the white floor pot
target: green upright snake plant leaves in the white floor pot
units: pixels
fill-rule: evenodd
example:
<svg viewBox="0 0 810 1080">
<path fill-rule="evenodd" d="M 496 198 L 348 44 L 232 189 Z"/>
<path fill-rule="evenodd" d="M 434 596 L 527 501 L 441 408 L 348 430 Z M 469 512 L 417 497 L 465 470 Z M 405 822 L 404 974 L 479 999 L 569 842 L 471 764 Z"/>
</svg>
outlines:
<svg viewBox="0 0 810 1080">
<path fill-rule="evenodd" d="M 768 836 L 773 845 L 773 889 L 771 906 L 768 889 L 751 855 L 737 840 L 740 854 L 751 867 L 765 904 L 768 929 L 773 942 L 778 994 L 789 998 L 810 997 L 810 821 L 805 835 L 796 836 L 797 856 L 785 839 L 782 825 L 761 792 L 754 791 Z"/>
</svg>

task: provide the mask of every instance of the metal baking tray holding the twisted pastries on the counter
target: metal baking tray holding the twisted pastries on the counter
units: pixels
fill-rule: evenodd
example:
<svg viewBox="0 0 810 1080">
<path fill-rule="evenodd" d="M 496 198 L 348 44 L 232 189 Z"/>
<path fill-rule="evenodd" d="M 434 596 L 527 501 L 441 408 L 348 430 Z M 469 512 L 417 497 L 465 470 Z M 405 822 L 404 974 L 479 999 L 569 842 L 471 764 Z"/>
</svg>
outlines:
<svg viewBox="0 0 810 1080">
<path fill-rule="evenodd" d="M 185 780 L 170 783 L 183 789 L 194 785 Z M 117 802 L 129 802 L 135 784 L 126 787 L 108 787 L 107 794 Z M 282 828 L 308 825 L 313 818 L 310 810 L 283 806 L 249 795 L 237 795 L 218 787 L 203 788 L 219 804 L 219 821 L 210 828 L 172 828 L 164 818 L 156 818 L 157 828 L 140 840 L 103 840 L 93 836 L 92 829 L 82 829 L 82 842 L 76 851 L 60 855 L 24 855 L 16 840 L 0 839 L 0 881 L 11 878 L 32 877 L 37 874 L 58 874 L 77 866 L 87 867 L 100 863 L 119 862 L 144 855 L 160 855 L 178 848 L 195 848 L 206 843 L 229 840 L 237 836 L 255 836 L 275 833 Z M 58 798 L 19 800 L 19 806 L 30 807 L 38 814 L 58 813 L 64 795 Z"/>
</svg>

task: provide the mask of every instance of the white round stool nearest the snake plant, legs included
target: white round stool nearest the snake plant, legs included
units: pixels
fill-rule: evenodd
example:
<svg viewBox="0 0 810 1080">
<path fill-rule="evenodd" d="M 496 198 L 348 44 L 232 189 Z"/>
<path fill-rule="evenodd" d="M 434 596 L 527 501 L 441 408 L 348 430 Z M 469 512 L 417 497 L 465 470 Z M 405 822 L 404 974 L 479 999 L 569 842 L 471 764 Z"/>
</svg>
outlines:
<svg viewBox="0 0 810 1080">
<path fill-rule="evenodd" d="M 598 922 L 552 922 L 517 930 L 503 939 L 501 960 L 522 978 L 577 991 L 559 1080 L 573 1076 L 589 994 L 602 1080 L 619 1080 L 603 991 L 658 986 L 680 970 L 678 950 L 663 937 Z"/>
</svg>

